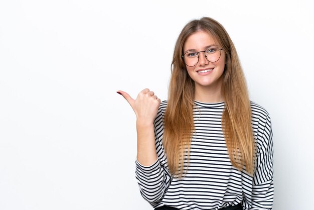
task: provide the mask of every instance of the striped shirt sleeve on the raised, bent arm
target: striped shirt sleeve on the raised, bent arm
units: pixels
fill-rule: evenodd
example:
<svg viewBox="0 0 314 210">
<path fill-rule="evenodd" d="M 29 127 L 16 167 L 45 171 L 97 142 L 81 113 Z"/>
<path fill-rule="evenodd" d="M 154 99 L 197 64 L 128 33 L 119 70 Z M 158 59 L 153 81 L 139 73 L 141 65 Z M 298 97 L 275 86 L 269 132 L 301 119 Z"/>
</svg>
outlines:
<svg viewBox="0 0 314 210">
<path fill-rule="evenodd" d="M 162 144 L 163 138 L 163 113 L 166 109 L 165 102 L 161 107 L 154 121 L 155 145 L 158 159 L 150 166 L 143 166 L 135 161 L 135 177 L 138 182 L 139 191 L 142 197 L 153 207 L 158 207 L 172 181 L 169 173 L 167 158 Z"/>
</svg>

